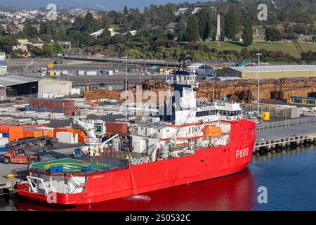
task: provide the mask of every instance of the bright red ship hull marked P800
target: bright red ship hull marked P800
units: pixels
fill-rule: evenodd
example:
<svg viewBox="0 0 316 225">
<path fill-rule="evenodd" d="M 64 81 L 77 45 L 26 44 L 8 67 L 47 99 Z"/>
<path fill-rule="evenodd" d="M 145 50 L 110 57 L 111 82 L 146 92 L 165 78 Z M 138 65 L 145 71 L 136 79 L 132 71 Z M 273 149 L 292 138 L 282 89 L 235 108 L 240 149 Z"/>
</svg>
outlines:
<svg viewBox="0 0 316 225">
<path fill-rule="evenodd" d="M 114 198 L 146 193 L 172 186 L 236 174 L 251 161 L 256 140 L 256 124 L 248 120 L 231 122 L 230 141 L 226 146 L 195 150 L 194 155 L 133 165 L 88 176 L 83 193 L 55 195 L 58 205 L 85 205 Z M 29 191 L 18 184 L 18 194 L 47 203 L 44 194 Z"/>
</svg>

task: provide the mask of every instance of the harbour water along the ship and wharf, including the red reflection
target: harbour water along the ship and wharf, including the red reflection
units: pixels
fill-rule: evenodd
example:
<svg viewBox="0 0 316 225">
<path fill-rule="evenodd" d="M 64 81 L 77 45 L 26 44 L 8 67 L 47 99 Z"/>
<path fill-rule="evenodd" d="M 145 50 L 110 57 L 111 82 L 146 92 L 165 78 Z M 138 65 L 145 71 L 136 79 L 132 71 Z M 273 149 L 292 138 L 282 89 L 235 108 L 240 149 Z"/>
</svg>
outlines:
<svg viewBox="0 0 316 225">
<path fill-rule="evenodd" d="M 268 203 L 258 203 L 259 187 Z M 254 158 L 239 174 L 79 207 L 0 197 L 0 210 L 316 210 L 316 147 Z"/>
</svg>

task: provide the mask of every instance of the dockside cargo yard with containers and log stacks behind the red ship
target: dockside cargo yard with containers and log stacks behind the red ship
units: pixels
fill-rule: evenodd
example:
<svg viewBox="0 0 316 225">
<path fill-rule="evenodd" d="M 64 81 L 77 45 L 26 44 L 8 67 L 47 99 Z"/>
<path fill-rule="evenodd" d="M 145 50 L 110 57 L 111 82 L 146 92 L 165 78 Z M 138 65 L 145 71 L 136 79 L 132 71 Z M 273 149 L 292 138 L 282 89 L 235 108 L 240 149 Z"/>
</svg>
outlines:
<svg viewBox="0 0 316 225">
<path fill-rule="evenodd" d="M 96 67 L 100 68 L 99 65 L 94 65 L 89 70 L 96 71 L 98 70 Z M 114 67 L 107 65 L 107 70 L 109 69 L 115 70 Z M 34 140 L 23 144 L 23 148 L 29 149 L 32 154 L 48 151 L 51 157 L 47 158 L 48 160 L 72 158 L 78 153 L 76 149 L 81 149 L 79 155 L 85 154 L 82 149 L 86 149 L 83 146 L 86 146 L 89 140 L 91 141 L 91 134 L 88 128 L 76 124 L 74 120 L 76 118 L 79 121 L 91 120 L 94 123 L 100 121 L 100 127 L 106 130 L 103 136 L 111 143 L 108 149 L 119 148 L 119 152 L 124 153 L 121 159 L 126 160 L 126 156 L 129 157 L 129 153 L 133 153 L 125 135 L 129 133 L 128 124 L 136 119 L 129 116 L 127 121 L 130 122 L 126 123 L 124 120 L 126 111 L 121 105 L 124 102 L 121 94 L 126 84 L 126 90 L 131 91 L 135 98 L 139 89 L 142 90 L 141 93 L 154 91 L 157 95 L 159 91 L 174 90 L 170 82 L 173 75 L 144 76 L 139 72 L 132 72 L 125 82 L 124 72 L 121 72 L 121 75 L 105 76 L 74 75 L 74 70 L 70 73 L 67 76 L 53 78 L 37 74 L 1 77 L 4 82 L 8 81 L 8 77 L 14 79 L 25 77 L 23 83 L 14 83 L 14 79 L 10 78 L 13 83 L 8 83 L 7 86 L 11 85 L 13 89 L 7 88 L 6 93 L 2 94 L 6 97 L 4 101 L 1 101 L 0 109 L 0 150 L 3 156 L 12 155 L 14 148 L 10 143 L 25 139 Z M 261 79 L 261 117 L 256 116 L 258 106 L 256 79 L 207 81 L 197 76 L 197 80 L 199 80 L 199 86 L 195 91 L 199 102 L 224 100 L 240 103 L 244 117 L 256 122 L 258 134 L 254 158 L 315 144 L 315 77 L 299 77 L 298 75 L 298 77 L 283 77 L 282 79 Z M 25 92 L 19 93 L 19 91 L 14 91 L 14 85 L 20 85 L 19 90 L 25 89 L 23 85 L 31 85 L 35 88 L 27 92 L 29 88 L 27 87 Z M 143 99 L 143 102 L 146 100 Z M 133 114 L 130 113 L 129 111 L 129 115 Z M 53 149 L 46 148 L 45 141 L 35 140 L 43 136 L 53 143 Z M 119 139 L 117 139 L 118 136 Z M 117 141 L 113 143 L 112 140 Z M 105 155 L 115 152 L 115 150 L 107 150 Z M 23 157 L 12 155 L 12 157 L 24 157 L 24 159 L 18 160 L 19 163 L 13 163 L 14 159 L 11 158 L 9 160 L 11 163 L 0 164 L 0 188 L 4 193 L 14 192 L 15 183 L 25 176 L 27 164 L 32 159 L 29 154 Z M 139 160 L 142 158 L 146 160 L 146 157 L 146 155 L 138 155 Z M 44 156 L 41 158 L 44 160 Z M 22 160 L 25 161 L 22 162 Z"/>
</svg>

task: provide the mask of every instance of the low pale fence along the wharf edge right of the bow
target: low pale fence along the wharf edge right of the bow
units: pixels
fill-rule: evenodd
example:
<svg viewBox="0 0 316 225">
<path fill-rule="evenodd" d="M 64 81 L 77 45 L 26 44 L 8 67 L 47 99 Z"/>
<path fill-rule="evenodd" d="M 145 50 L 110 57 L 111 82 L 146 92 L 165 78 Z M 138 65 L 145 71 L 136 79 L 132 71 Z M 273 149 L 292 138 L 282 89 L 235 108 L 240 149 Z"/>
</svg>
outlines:
<svg viewBox="0 0 316 225">
<path fill-rule="evenodd" d="M 257 124 L 256 128 L 257 130 L 262 129 L 275 129 L 279 127 L 289 127 L 289 126 L 297 126 L 299 124 L 309 124 L 309 123 L 315 123 L 316 117 L 306 117 L 306 118 L 299 118 L 296 120 L 282 120 L 277 122 L 267 122 L 263 124 Z"/>
</svg>

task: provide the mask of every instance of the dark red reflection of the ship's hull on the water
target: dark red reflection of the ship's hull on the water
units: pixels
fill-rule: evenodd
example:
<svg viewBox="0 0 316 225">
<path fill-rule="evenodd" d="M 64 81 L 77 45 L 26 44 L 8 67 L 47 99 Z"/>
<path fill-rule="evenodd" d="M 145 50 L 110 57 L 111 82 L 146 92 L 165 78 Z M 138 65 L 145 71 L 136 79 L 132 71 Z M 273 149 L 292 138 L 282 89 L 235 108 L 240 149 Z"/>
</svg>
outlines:
<svg viewBox="0 0 316 225">
<path fill-rule="evenodd" d="M 166 188 L 141 195 L 77 207 L 56 207 L 20 199 L 17 210 L 252 210 L 254 179 L 249 169 L 219 179 Z"/>
</svg>

